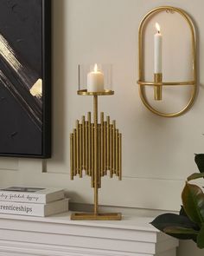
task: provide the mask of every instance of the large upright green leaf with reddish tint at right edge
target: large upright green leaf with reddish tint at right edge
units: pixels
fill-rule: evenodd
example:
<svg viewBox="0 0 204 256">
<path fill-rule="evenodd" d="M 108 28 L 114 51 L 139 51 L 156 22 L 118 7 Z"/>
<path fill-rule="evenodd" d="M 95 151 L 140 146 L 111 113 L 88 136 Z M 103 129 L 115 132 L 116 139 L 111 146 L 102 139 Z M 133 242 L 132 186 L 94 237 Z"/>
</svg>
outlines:
<svg viewBox="0 0 204 256">
<path fill-rule="evenodd" d="M 201 226 L 204 222 L 204 194 L 201 188 L 187 182 L 182 191 L 182 204 L 188 218 Z"/>
</svg>

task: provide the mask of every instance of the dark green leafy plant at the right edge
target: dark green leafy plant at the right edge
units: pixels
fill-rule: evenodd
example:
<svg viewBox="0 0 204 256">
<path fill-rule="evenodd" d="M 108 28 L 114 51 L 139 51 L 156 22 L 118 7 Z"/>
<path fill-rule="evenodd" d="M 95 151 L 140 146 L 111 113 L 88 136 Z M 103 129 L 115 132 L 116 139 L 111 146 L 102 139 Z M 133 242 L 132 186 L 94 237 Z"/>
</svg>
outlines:
<svg viewBox="0 0 204 256">
<path fill-rule="evenodd" d="M 204 248 L 204 194 L 201 187 L 191 182 L 204 177 L 204 154 L 195 154 L 194 161 L 200 173 L 188 177 L 182 190 L 180 213 L 164 213 L 151 224 L 163 233 L 180 240 L 193 240 L 199 248 Z"/>
</svg>

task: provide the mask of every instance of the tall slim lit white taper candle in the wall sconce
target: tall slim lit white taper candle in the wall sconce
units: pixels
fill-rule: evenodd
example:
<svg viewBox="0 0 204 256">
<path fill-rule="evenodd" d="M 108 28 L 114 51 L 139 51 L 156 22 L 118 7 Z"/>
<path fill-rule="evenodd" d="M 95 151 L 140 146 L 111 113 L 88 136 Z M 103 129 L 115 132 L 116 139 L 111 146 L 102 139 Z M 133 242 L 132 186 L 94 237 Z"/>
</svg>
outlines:
<svg viewBox="0 0 204 256">
<path fill-rule="evenodd" d="M 160 32 L 160 26 L 156 23 L 157 33 L 154 36 L 154 73 L 163 73 L 163 36 Z"/>
</svg>

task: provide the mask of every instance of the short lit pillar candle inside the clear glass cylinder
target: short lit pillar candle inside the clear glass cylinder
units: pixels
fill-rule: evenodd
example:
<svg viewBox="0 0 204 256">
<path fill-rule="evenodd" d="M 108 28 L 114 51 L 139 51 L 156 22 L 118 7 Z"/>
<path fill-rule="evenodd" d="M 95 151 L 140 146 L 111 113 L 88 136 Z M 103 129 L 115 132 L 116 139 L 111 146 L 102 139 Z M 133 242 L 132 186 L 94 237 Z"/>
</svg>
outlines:
<svg viewBox="0 0 204 256">
<path fill-rule="evenodd" d="M 94 70 L 87 74 L 87 92 L 104 91 L 104 74 L 98 69 L 97 64 Z"/>
</svg>

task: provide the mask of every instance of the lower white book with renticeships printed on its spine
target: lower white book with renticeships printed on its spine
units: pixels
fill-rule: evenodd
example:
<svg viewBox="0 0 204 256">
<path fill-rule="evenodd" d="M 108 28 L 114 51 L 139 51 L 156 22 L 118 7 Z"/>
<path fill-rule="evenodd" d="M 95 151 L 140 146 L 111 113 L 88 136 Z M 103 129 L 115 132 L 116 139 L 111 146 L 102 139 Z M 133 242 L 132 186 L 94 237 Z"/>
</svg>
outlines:
<svg viewBox="0 0 204 256">
<path fill-rule="evenodd" d="M 0 213 L 46 217 L 67 211 L 68 199 L 57 200 L 48 204 L 0 201 Z"/>
</svg>

